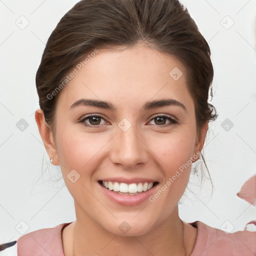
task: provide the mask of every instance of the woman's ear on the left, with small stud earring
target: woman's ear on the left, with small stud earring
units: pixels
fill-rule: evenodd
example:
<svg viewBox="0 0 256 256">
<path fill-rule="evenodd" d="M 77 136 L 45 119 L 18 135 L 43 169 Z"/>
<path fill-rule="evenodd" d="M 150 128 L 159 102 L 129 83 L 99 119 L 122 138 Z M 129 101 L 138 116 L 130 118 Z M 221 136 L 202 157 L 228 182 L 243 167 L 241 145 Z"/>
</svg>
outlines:
<svg viewBox="0 0 256 256">
<path fill-rule="evenodd" d="M 52 134 L 52 131 L 50 130 L 50 127 L 45 122 L 43 111 L 40 108 L 37 109 L 35 111 L 34 117 L 38 126 L 39 133 L 41 135 L 43 144 L 47 151 L 47 154 L 49 158 L 53 157 L 52 164 L 59 165 L 57 150 L 53 140 L 53 134 Z"/>
</svg>

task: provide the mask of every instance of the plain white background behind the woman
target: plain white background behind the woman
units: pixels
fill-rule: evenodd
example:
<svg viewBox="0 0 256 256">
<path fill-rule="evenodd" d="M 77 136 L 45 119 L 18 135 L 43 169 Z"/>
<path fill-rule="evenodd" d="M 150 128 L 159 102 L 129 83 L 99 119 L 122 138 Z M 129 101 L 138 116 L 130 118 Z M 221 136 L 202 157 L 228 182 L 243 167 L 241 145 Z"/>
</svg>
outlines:
<svg viewBox="0 0 256 256">
<path fill-rule="evenodd" d="M 27 233 L 75 220 L 73 199 L 60 167 L 48 159 L 34 112 L 39 107 L 35 73 L 46 40 L 76 2 L 0 0 L 0 243 L 21 236 L 15 228 L 20 221 L 28 226 Z M 180 218 L 216 228 L 228 220 L 232 232 L 243 230 L 256 219 L 256 207 L 236 196 L 256 173 L 256 0 L 182 3 L 211 49 L 214 96 L 210 103 L 219 116 L 210 124 L 204 146 L 213 194 L 209 181 L 200 190 L 200 180 L 191 176 L 193 182 L 179 205 Z M 15 24 L 21 15 L 29 21 L 24 29 Z M 231 19 L 234 24 L 226 29 Z M 16 127 L 21 118 L 28 123 L 24 131 Z M 234 124 L 228 131 L 221 126 L 226 118 Z"/>
</svg>

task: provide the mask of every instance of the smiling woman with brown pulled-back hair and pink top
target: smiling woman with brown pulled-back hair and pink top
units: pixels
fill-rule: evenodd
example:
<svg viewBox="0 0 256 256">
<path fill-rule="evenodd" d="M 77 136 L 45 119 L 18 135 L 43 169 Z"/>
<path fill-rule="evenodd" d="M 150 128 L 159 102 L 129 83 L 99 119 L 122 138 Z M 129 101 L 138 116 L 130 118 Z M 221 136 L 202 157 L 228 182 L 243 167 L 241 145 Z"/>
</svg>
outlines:
<svg viewBox="0 0 256 256">
<path fill-rule="evenodd" d="M 22 235 L 18 255 L 254 255 L 256 233 L 178 215 L 217 117 L 212 78 L 209 46 L 176 0 L 70 9 L 36 73 L 35 120 L 76 221 Z"/>
</svg>

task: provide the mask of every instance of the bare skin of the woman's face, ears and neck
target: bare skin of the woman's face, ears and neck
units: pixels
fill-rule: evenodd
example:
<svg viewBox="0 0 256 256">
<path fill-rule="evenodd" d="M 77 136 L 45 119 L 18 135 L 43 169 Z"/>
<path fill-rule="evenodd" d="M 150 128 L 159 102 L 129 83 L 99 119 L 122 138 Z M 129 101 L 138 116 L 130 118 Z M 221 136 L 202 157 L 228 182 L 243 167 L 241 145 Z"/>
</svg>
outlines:
<svg viewBox="0 0 256 256">
<path fill-rule="evenodd" d="M 178 80 L 169 75 L 174 67 L 183 72 Z M 80 98 L 107 100 L 116 110 L 93 106 L 69 109 Z M 186 111 L 176 105 L 141 109 L 145 101 L 162 98 L 178 100 Z M 91 113 L 104 118 L 98 119 L 96 128 L 78 122 Z M 178 123 L 168 119 L 157 122 L 155 117 L 161 114 L 174 117 Z M 126 131 L 118 127 L 123 118 L 131 123 Z M 198 137 L 185 68 L 175 57 L 142 43 L 116 50 L 99 49 L 60 92 L 55 140 L 41 109 L 35 112 L 35 119 L 48 156 L 54 156 L 52 163 L 60 165 L 74 198 L 76 221 L 62 231 L 66 256 L 72 255 L 73 233 L 75 255 L 191 254 L 197 228 L 184 221 L 183 228 L 178 216 L 178 201 L 191 165 L 154 202 L 145 200 L 135 206 L 111 201 L 97 183 L 104 177 L 145 177 L 158 181 L 160 188 L 196 151 L 201 151 L 208 123 Z M 85 122 L 93 126 L 91 119 Z M 72 169 L 80 175 L 74 183 L 67 178 Z M 123 221 L 131 227 L 125 234 L 118 228 Z"/>
</svg>

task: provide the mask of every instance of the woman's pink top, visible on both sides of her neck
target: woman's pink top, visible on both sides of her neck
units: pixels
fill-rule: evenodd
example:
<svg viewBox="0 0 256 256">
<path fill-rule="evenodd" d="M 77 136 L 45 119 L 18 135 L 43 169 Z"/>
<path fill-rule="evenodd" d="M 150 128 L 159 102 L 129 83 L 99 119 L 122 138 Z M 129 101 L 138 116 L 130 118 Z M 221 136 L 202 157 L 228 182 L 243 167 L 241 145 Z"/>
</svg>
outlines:
<svg viewBox="0 0 256 256">
<path fill-rule="evenodd" d="M 17 240 L 18 256 L 64 256 L 61 231 L 69 223 L 38 229 Z M 198 229 L 190 256 L 255 256 L 256 232 L 243 230 L 234 233 L 208 226 L 201 221 L 189 223 Z"/>
</svg>

